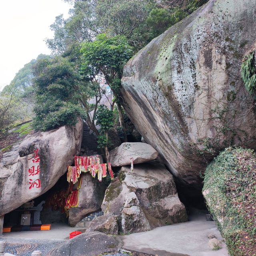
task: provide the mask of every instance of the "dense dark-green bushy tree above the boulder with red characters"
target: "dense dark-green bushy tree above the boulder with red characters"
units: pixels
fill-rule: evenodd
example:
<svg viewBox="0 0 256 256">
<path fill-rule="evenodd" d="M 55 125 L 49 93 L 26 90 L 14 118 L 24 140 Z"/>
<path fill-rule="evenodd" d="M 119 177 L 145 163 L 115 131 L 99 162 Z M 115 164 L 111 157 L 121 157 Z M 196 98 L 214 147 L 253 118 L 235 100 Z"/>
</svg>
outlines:
<svg viewBox="0 0 256 256">
<path fill-rule="evenodd" d="M 36 130 L 48 130 L 60 125 L 74 125 L 83 108 L 74 97 L 74 84 L 79 82 L 75 66 L 61 56 L 52 60 L 42 59 L 34 66 Z"/>
</svg>

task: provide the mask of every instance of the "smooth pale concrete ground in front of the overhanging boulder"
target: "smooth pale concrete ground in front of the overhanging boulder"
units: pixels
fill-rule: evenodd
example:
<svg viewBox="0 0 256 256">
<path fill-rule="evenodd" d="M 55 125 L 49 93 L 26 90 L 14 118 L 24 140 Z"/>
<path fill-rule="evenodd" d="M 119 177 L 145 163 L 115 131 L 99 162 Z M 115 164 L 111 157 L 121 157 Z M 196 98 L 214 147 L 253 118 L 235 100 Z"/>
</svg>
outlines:
<svg viewBox="0 0 256 256">
<path fill-rule="evenodd" d="M 207 236 L 214 234 L 222 240 L 213 221 L 206 221 L 205 215 L 190 217 L 189 222 L 155 228 L 122 236 L 124 248 L 159 256 L 228 256 L 225 244 L 220 250 L 210 250 Z"/>
</svg>

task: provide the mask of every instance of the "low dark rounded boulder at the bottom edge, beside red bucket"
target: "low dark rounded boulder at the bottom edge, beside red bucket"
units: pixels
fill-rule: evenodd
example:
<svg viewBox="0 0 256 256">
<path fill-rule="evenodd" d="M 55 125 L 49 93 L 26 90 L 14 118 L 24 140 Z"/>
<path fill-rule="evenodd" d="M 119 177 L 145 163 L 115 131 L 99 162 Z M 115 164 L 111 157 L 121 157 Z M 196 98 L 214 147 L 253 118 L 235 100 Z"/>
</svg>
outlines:
<svg viewBox="0 0 256 256">
<path fill-rule="evenodd" d="M 115 252 L 117 246 L 118 242 L 111 236 L 100 232 L 88 232 L 58 245 L 46 256 L 95 256 Z"/>
</svg>

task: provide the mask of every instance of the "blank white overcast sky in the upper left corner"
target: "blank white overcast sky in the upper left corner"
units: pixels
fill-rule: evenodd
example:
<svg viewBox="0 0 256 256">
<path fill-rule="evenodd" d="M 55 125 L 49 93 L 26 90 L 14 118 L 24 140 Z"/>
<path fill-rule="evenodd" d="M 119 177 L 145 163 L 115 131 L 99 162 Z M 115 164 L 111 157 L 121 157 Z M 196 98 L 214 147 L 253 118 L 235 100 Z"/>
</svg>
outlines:
<svg viewBox="0 0 256 256">
<path fill-rule="evenodd" d="M 0 2 L 0 90 L 24 64 L 40 53 L 50 54 L 44 39 L 52 38 L 55 17 L 68 17 L 62 0 L 2 0 Z"/>
</svg>

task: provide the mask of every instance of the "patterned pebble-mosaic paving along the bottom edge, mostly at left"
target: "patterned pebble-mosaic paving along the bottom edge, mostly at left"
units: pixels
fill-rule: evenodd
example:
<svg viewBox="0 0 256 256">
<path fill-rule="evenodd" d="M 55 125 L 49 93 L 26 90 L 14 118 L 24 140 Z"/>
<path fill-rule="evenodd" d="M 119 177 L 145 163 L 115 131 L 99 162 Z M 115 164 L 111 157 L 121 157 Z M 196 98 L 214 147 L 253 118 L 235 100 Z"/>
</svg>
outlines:
<svg viewBox="0 0 256 256">
<path fill-rule="evenodd" d="M 31 253 L 35 250 L 40 250 L 42 256 L 51 250 L 53 247 L 58 246 L 65 241 L 53 241 L 53 240 L 6 240 L 5 251 L 17 256 L 31 256 Z M 66 255 L 65 255 L 66 256 Z M 127 254 L 104 254 L 104 256 L 127 256 Z"/>
</svg>

